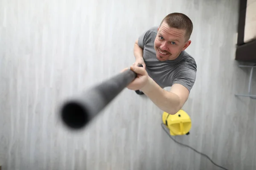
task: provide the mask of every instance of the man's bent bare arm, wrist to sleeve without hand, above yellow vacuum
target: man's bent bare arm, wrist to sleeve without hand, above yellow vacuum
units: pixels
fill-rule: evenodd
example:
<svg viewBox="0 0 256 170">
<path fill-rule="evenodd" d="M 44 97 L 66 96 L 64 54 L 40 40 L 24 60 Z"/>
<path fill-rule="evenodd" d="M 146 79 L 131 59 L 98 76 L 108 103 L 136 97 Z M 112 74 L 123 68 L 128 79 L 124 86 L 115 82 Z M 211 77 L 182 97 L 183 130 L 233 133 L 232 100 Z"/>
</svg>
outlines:
<svg viewBox="0 0 256 170">
<path fill-rule="evenodd" d="M 184 105 L 189 96 L 189 90 L 180 84 L 172 85 L 170 91 L 166 91 L 148 77 L 148 83 L 140 89 L 148 96 L 158 108 L 169 114 L 177 113 Z"/>
</svg>

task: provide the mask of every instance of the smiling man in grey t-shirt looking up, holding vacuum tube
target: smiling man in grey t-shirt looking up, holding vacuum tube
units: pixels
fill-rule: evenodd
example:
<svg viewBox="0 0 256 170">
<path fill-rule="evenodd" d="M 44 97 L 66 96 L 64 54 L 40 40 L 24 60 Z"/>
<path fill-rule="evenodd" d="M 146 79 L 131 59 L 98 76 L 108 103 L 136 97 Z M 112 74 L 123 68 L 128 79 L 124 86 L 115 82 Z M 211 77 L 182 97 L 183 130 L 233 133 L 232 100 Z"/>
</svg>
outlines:
<svg viewBox="0 0 256 170">
<path fill-rule="evenodd" d="M 145 94 L 169 114 L 183 107 L 195 83 L 197 65 L 185 51 L 192 29 L 192 21 L 185 14 L 168 14 L 159 27 L 145 31 L 134 44 L 136 62 L 130 69 L 138 76 L 127 88 Z"/>
</svg>

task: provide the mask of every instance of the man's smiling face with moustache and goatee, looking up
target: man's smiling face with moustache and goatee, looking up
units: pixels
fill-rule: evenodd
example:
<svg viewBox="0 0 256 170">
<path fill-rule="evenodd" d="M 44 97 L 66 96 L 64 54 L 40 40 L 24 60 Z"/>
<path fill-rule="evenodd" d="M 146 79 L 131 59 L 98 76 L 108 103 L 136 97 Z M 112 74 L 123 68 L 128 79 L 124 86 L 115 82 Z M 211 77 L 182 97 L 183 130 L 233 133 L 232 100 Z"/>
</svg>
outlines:
<svg viewBox="0 0 256 170">
<path fill-rule="evenodd" d="M 154 48 L 159 61 L 176 59 L 180 52 L 185 50 L 191 41 L 185 41 L 186 30 L 170 28 L 163 22 L 158 28 Z"/>
</svg>

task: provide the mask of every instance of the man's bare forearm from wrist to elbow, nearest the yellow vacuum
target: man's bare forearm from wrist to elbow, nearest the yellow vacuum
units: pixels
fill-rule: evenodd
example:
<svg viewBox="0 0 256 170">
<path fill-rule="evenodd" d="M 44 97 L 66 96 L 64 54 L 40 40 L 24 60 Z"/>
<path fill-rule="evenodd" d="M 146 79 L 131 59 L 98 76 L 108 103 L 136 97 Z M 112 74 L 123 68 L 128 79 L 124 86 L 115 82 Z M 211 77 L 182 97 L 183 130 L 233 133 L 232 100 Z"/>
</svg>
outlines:
<svg viewBox="0 0 256 170">
<path fill-rule="evenodd" d="M 175 114 L 181 109 L 179 96 L 164 90 L 150 77 L 148 83 L 140 90 L 143 91 L 158 108 L 166 113 Z"/>
</svg>

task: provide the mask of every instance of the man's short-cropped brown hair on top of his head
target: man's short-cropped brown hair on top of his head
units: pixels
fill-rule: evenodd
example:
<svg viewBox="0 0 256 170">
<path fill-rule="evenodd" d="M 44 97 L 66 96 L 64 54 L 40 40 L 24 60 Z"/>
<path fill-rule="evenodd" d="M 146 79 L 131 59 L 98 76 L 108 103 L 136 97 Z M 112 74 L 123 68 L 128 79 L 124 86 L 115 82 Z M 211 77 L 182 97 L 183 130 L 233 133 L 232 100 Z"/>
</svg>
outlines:
<svg viewBox="0 0 256 170">
<path fill-rule="evenodd" d="M 166 15 L 166 17 L 164 17 L 164 19 L 162 20 L 160 26 L 164 21 L 171 28 L 185 29 L 186 30 L 185 40 L 189 40 L 193 31 L 193 23 L 188 16 L 182 13 L 175 12 L 175 13 Z"/>
</svg>

